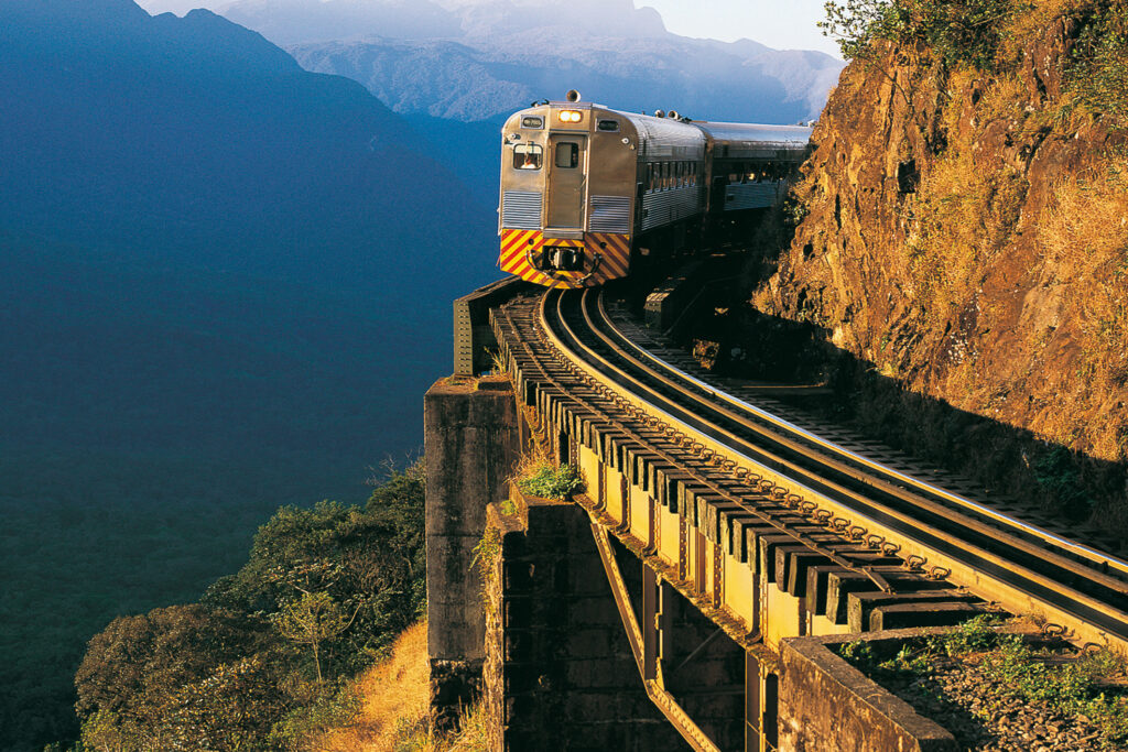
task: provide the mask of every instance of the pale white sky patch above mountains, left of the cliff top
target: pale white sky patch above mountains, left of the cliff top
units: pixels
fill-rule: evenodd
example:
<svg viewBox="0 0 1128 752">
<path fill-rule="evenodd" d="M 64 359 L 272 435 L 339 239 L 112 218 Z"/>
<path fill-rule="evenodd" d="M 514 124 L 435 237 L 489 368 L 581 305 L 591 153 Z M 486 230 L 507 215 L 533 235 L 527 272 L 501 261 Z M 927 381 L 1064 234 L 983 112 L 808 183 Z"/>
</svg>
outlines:
<svg viewBox="0 0 1128 752">
<path fill-rule="evenodd" d="M 635 0 L 662 15 L 666 28 L 682 36 L 733 42 L 755 39 L 777 50 L 821 50 L 840 57 L 822 36 L 823 0 Z"/>
</svg>

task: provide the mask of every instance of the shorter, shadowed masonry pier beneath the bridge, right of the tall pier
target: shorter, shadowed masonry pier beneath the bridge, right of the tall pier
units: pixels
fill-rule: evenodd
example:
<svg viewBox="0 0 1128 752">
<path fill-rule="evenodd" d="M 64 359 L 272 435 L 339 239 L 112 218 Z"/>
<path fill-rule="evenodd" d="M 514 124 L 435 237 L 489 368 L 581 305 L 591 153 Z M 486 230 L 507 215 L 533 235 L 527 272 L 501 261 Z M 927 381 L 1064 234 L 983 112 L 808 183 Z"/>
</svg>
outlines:
<svg viewBox="0 0 1128 752">
<path fill-rule="evenodd" d="M 646 696 L 583 508 L 514 489 L 487 524 L 490 752 L 690 750 Z"/>
</svg>

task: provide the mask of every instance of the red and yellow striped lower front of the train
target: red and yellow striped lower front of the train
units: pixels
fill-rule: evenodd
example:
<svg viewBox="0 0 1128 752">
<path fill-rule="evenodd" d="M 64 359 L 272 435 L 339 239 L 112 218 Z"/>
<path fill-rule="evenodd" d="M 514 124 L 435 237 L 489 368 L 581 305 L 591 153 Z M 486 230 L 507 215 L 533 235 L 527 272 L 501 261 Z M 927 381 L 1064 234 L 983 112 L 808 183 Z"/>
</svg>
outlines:
<svg viewBox="0 0 1128 752">
<path fill-rule="evenodd" d="M 583 248 L 583 268 L 576 272 L 536 267 L 545 245 Z M 598 263 L 597 263 L 598 259 Z M 540 230 L 502 230 L 502 272 L 546 287 L 596 287 L 625 277 L 631 268 L 631 236 L 615 232 L 584 232 L 583 240 L 545 239 Z M 594 267 L 594 269 L 592 269 Z"/>
</svg>

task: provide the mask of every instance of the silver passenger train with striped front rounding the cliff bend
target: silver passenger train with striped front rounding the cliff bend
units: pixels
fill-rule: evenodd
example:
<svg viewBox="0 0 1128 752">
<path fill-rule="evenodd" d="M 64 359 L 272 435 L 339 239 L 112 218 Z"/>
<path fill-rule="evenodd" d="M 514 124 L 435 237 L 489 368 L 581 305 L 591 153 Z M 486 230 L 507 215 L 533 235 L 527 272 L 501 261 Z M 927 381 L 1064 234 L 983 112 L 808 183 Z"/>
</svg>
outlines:
<svg viewBox="0 0 1128 752">
<path fill-rule="evenodd" d="M 581 100 L 534 103 L 502 127 L 503 272 L 598 286 L 772 206 L 810 150 L 804 125 L 696 121 Z"/>
</svg>

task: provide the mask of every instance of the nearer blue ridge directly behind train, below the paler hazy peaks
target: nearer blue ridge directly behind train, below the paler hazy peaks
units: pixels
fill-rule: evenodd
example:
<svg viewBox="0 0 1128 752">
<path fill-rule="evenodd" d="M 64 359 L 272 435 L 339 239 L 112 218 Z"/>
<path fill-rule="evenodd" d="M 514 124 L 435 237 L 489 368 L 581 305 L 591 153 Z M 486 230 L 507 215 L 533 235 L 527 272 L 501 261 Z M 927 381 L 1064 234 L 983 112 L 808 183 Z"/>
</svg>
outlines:
<svg viewBox="0 0 1128 752">
<path fill-rule="evenodd" d="M 574 88 L 616 109 L 677 109 L 696 120 L 795 123 L 818 116 L 840 61 L 756 42 L 555 29 L 487 39 L 367 38 L 288 47 L 303 68 L 360 81 L 393 110 L 496 121 Z"/>
</svg>

